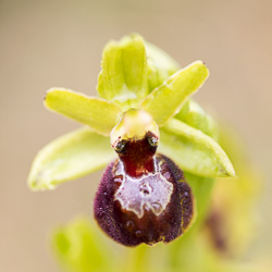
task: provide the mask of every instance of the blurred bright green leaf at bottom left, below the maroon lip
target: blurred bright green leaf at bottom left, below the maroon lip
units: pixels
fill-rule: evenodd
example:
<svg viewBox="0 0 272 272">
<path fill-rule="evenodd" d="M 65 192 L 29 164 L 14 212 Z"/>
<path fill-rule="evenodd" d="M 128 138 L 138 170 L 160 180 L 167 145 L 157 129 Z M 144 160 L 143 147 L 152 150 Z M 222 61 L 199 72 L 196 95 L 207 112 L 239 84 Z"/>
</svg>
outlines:
<svg viewBox="0 0 272 272">
<path fill-rule="evenodd" d="M 102 242 L 87 219 L 77 219 L 52 235 L 53 251 L 65 271 L 71 272 L 113 271 L 113 255 Z"/>
</svg>

